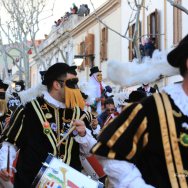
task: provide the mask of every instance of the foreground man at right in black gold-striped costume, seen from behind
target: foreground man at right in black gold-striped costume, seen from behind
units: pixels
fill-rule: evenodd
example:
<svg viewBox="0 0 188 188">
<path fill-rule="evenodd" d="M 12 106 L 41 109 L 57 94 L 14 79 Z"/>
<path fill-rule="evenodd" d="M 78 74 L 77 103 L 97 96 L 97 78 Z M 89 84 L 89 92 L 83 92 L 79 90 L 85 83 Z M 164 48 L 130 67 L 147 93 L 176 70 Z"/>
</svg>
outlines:
<svg viewBox="0 0 188 188">
<path fill-rule="evenodd" d="M 92 149 L 101 156 L 112 187 L 129 187 L 127 161 L 154 187 L 188 185 L 188 35 L 167 59 L 179 68 L 183 82 L 128 106 L 102 130 Z"/>
</svg>

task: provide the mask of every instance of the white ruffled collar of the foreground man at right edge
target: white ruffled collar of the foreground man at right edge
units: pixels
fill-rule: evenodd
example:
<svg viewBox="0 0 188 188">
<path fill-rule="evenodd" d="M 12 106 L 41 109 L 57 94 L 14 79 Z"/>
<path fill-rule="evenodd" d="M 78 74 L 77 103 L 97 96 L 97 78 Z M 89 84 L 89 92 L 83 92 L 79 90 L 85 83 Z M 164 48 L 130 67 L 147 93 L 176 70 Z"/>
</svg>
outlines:
<svg viewBox="0 0 188 188">
<path fill-rule="evenodd" d="M 169 94 L 175 105 L 178 106 L 184 115 L 188 116 L 188 96 L 184 92 L 182 84 L 166 86 L 163 91 Z"/>
</svg>

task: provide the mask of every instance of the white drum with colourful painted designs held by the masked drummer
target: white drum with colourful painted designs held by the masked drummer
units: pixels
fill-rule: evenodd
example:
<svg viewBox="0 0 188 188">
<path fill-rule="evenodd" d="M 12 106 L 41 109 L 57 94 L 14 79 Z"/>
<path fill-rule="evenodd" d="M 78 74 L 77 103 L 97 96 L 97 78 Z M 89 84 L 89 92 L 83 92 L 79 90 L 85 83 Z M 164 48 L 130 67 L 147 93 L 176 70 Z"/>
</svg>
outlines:
<svg viewBox="0 0 188 188">
<path fill-rule="evenodd" d="M 92 180 L 65 164 L 61 159 L 49 154 L 43 163 L 32 187 L 36 188 L 98 188 L 99 182 Z"/>
</svg>

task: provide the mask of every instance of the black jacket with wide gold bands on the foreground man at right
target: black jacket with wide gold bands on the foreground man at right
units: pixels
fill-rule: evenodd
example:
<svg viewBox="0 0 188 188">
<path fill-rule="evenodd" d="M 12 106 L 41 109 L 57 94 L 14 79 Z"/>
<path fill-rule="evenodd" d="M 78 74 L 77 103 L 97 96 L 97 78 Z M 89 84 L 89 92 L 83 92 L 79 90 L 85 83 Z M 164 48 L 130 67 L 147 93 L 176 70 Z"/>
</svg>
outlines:
<svg viewBox="0 0 188 188">
<path fill-rule="evenodd" d="M 167 94 L 134 103 L 99 135 L 92 153 L 128 160 L 146 183 L 159 188 L 187 187 L 188 117 Z"/>
</svg>

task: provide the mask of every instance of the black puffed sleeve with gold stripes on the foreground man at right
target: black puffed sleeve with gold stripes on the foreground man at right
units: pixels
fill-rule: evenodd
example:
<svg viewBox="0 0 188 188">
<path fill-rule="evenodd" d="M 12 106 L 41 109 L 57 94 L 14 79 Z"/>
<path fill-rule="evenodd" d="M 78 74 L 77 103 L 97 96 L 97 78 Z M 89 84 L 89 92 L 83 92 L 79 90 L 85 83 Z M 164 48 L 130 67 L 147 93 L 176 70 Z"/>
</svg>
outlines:
<svg viewBox="0 0 188 188">
<path fill-rule="evenodd" d="M 92 153 L 111 159 L 134 161 L 147 145 L 147 117 L 141 103 L 134 103 L 105 126 Z"/>
</svg>

